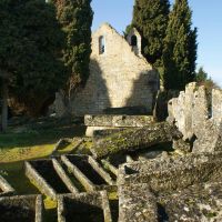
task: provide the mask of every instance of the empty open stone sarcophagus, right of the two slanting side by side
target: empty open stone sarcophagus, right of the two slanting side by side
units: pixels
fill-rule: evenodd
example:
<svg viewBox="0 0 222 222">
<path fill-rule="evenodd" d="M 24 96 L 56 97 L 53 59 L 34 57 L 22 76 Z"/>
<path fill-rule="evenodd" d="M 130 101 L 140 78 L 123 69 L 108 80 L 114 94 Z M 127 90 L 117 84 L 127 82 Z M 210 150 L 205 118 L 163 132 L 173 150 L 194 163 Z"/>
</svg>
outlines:
<svg viewBox="0 0 222 222">
<path fill-rule="evenodd" d="M 89 192 L 114 185 L 110 174 L 89 155 L 62 155 L 61 160 Z"/>
</svg>

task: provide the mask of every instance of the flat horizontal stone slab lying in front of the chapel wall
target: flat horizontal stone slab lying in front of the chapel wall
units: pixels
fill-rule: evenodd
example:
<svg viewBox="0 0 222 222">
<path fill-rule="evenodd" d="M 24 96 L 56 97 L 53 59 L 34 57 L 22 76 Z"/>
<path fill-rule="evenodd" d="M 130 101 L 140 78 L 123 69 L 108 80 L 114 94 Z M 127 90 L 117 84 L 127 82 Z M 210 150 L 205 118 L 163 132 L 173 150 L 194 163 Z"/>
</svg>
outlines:
<svg viewBox="0 0 222 222">
<path fill-rule="evenodd" d="M 84 124 L 88 127 L 142 128 L 152 122 L 152 115 L 84 115 Z"/>
</svg>

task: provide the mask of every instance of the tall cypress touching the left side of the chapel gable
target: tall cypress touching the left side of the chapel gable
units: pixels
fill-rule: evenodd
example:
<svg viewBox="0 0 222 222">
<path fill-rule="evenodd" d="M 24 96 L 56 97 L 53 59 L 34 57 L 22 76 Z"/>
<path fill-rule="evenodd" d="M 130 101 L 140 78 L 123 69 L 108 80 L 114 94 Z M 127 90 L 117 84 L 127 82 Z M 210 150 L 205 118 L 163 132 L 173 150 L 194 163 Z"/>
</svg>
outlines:
<svg viewBox="0 0 222 222">
<path fill-rule="evenodd" d="M 67 67 L 69 92 L 84 85 L 90 74 L 91 26 L 93 11 L 91 0 L 52 0 L 57 17 L 67 36 L 63 62 Z M 70 94 L 70 93 L 69 93 Z"/>
</svg>

